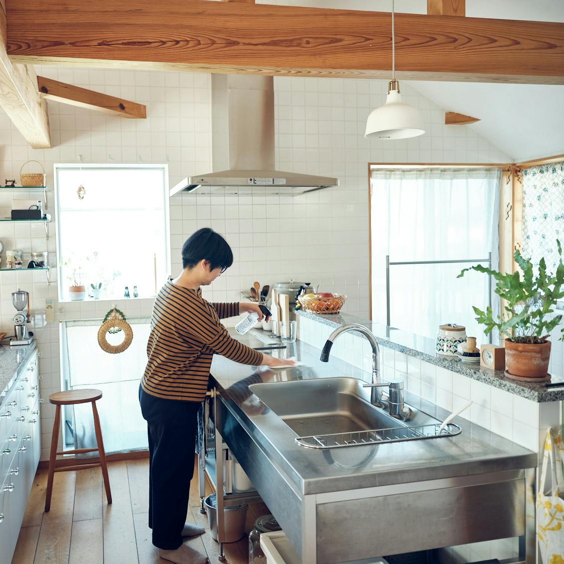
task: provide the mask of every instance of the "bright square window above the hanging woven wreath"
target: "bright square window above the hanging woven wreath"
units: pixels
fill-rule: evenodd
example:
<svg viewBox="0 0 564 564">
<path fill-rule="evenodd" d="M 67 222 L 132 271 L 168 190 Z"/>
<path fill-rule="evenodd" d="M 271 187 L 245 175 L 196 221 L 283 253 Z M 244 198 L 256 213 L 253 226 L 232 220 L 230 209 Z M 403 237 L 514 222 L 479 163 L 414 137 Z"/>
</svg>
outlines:
<svg viewBox="0 0 564 564">
<path fill-rule="evenodd" d="M 170 271 L 166 165 L 55 165 L 55 197 L 61 301 L 72 285 L 156 295 Z"/>
</svg>

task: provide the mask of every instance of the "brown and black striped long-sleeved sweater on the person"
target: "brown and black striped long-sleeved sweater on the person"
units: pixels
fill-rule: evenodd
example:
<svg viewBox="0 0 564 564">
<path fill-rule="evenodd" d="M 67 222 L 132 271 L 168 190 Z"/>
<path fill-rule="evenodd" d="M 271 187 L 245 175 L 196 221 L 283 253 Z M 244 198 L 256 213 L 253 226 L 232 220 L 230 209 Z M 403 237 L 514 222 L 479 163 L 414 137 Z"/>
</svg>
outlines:
<svg viewBox="0 0 564 564">
<path fill-rule="evenodd" d="M 168 281 L 153 305 L 143 390 L 157 398 L 201 402 L 214 354 L 261 364 L 262 353 L 230 337 L 219 321 L 235 315 L 239 303 L 209 303 L 201 290 Z"/>
</svg>

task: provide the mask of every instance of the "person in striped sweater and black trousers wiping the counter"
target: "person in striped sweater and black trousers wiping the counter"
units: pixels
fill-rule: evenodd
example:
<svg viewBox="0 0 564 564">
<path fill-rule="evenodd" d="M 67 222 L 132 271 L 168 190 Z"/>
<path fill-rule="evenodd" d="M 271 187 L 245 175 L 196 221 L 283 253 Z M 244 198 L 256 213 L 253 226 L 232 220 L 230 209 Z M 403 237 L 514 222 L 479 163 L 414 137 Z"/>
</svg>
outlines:
<svg viewBox="0 0 564 564">
<path fill-rule="evenodd" d="M 149 439 L 149 527 L 153 545 L 165 560 L 205 564 L 208 558 L 183 544 L 204 532 L 186 523 L 194 470 L 197 415 L 208 390 L 214 354 L 242 364 L 288 364 L 233 339 L 220 319 L 241 313 L 263 314 L 256 303 L 210 303 L 201 287 L 233 263 L 227 241 L 210 228 L 188 237 L 183 270 L 161 288 L 153 305 L 147 367 L 139 403 Z"/>
</svg>

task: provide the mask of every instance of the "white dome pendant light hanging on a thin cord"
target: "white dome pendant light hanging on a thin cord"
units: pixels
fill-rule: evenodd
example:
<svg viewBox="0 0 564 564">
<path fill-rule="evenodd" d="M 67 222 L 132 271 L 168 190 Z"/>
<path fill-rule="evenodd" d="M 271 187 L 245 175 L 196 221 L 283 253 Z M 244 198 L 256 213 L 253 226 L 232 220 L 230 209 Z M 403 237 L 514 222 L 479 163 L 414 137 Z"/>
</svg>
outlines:
<svg viewBox="0 0 564 564">
<path fill-rule="evenodd" d="M 374 109 L 366 121 L 367 139 L 407 139 L 425 133 L 423 118 L 417 108 L 404 104 L 395 80 L 394 0 L 391 3 L 391 81 L 386 103 Z"/>
</svg>

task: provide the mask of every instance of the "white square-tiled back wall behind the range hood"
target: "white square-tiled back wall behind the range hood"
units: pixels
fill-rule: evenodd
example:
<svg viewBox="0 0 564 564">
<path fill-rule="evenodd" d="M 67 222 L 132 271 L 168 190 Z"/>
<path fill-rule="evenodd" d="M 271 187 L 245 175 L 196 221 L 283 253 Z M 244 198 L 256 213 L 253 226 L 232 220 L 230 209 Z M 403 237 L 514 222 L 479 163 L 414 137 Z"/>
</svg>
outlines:
<svg viewBox="0 0 564 564">
<path fill-rule="evenodd" d="M 57 103 L 49 103 L 51 149 L 30 149 L 0 114 L 0 178 L 16 178 L 24 161 L 41 161 L 52 187 L 56 162 L 154 162 L 169 165 L 171 185 L 193 173 L 210 170 L 210 80 L 205 74 L 39 67 L 38 74 L 135 100 L 147 105 L 147 120 L 127 120 Z M 171 199 L 170 230 L 173 274 L 180 269 L 180 248 L 196 228 L 211 226 L 233 247 L 235 264 L 205 296 L 238 301 L 240 290 L 261 284 L 308 279 L 325 289 L 346 293 L 346 309 L 368 312 L 368 170 L 374 162 L 504 162 L 487 140 L 462 126 L 444 126 L 443 112 L 408 87 L 406 102 L 417 105 L 428 133 L 384 144 L 364 139 L 365 119 L 384 102 L 384 82 L 277 78 L 277 168 L 340 178 L 341 184 L 295 198 L 211 197 L 179 195 Z M 0 191 L 0 208 L 11 191 Z M 52 193 L 50 195 L 52 202 Z M 51 212 L 53 206 L 51 205 Z M 55 218 L 56 219 L 56 218 Z M 0 223 L 5 249 L 44 250 L 37 226 Z M 41 226 L 39 226 L 41 227 Z M 50 263 L 56 265 L 55 222 L 50 224 Z M 80 233 L 77 234 L 80 236 Z M 33 246 L 32 246 L 33 245 Z M 139 252 L 124 233 L 116 246 Z M 3 257 L 5 258 L 5 257 Z M 29 259 L 29 255 L 27 257 Z M 52 269 L 56 280 L 56 270 Z M 0 328 L 12 332 L 11 292 L 31 294 L 38 318 L 45 298 L 56 297 L 43 272 L 0 272 Z M 117 303 L 126 315 L 150 314 L 151 300 L 65 303 L 57 319 L 103 317 Z M 58 323 L 42 326 L 36 336 L 42 353 L 43 398 L 60 389 Z M 43 404 L 42 459 L 47 458 L 54 411 Z"/>
</svg>

